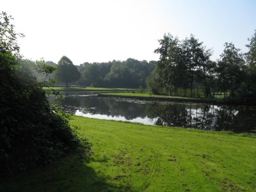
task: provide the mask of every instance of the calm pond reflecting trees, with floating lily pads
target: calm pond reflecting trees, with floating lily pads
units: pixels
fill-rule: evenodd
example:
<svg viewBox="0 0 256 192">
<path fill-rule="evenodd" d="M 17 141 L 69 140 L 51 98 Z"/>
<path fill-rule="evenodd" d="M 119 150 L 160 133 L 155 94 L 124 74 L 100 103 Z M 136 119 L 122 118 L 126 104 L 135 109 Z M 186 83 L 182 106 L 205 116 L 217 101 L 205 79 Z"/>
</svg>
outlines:
<svg viewBox="0 0 256 192">
<path fill-rule="evenodd" d="M 79 116 L 203 130 L 256 131 L 256 108 L 252 106 L 152 102 L 97 97 L 97 94 L 84 92 L 63 95 L 63 99 L 50 96 L 49 100 L 60 102 L 68 113 Z"/>
</svg>

